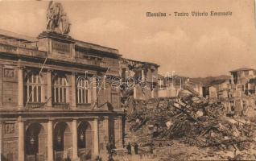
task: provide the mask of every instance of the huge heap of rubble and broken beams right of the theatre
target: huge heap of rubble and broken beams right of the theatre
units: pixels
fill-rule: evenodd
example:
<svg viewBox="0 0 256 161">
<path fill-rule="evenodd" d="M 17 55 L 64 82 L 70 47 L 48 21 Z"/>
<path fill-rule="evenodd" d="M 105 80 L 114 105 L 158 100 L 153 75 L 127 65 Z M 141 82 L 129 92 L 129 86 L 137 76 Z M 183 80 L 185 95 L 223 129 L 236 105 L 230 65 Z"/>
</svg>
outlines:
<svg viewBox="0 0 256 161">
<path fill-rule="evenodd" d="M 159 100 L 155 108 L 143 106 L 134 110 L 128 116 L 128 122 L 132 132 L 149 135 L 152 139 L 179 138 L 191 146 L 217 147 L 219 150 L 250 148 L 253 124 L 227 118 L 224 114 L 222 105 L 186 95 Z M 150 132 L 145 134 L 145 129 Z"/>
</svg>

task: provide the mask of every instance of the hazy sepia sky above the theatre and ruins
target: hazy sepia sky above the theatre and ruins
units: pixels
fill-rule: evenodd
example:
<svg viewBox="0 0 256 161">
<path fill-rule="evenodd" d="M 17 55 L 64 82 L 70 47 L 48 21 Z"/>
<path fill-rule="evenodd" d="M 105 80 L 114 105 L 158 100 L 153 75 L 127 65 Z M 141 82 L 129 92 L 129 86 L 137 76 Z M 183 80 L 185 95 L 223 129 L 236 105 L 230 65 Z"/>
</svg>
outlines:
<svg viewBox="0 0 256 161">
<path fill-rule="evenodd" d="M 159 73 L 229 75 L 256 68 L 254 0 L 59 1 L 72 23 L 69 35 L 118 49 L 123 57 L 159 64 Z M 47 1 L 0 0 L 0 28 L 36 37 L 46 30 Z M 192 17 L 192 11 L 232 16 Z M 147 12 L 171 14 L 147 17 Z M 178 17 L 174 12 L 188 12 Z"/>
</svg>

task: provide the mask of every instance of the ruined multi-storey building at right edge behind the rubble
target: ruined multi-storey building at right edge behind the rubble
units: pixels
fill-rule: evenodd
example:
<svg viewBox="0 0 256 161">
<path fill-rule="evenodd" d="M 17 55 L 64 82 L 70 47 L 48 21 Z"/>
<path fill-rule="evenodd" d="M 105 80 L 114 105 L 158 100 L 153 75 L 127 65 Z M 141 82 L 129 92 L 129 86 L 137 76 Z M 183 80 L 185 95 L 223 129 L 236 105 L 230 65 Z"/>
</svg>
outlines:
<svg viewBox="0 0 256 161">
<path fill-rule="evenodd" d="M 231 79 L 212 81 L 204 87 L 204 97 L 221 103 L 228 116 L 254 117 L 256 112 L 256 70 L 238 68 L 230 71 Z"/>
</svg>

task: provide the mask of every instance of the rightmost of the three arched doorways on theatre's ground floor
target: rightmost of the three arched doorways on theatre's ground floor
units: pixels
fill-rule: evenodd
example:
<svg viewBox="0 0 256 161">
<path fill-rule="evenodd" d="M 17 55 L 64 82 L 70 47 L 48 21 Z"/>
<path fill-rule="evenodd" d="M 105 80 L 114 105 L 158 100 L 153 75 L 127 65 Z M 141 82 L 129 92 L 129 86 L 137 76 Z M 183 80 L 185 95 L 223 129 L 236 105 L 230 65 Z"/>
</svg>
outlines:
<svg viewBox="0 0 256 161">
<path fill-rule="evenodd" d="M 93 150 L 93 131 L 89 122 L 81 122 L 77 128 L 77 150 L 81 161 L 91 159 Z"/>
</svg>

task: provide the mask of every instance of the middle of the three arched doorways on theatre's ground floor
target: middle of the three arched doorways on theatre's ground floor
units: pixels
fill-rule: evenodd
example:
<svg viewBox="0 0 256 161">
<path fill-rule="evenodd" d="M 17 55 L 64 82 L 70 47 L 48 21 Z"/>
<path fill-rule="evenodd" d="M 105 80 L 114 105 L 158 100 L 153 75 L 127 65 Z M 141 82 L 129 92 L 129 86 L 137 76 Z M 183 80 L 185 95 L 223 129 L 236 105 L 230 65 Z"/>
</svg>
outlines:
<svg viewBox="0 0 256 161">
<path fill-rule="evenodd" d="M 66 122 L 58 122 L 53 133 L 55 161 L 71 158 L 72 133 Z"/>
</svg>

